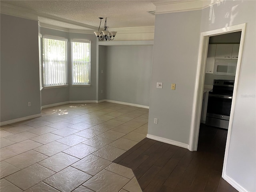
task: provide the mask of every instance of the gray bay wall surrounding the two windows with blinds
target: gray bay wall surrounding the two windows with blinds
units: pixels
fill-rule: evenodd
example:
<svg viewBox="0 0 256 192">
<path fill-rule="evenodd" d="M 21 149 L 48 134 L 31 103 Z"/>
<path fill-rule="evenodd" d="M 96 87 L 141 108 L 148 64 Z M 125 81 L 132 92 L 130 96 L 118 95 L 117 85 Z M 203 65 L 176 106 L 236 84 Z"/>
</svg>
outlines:
<svg viewBox="0 0 256 192">
<path fill-rule="evenodd" d="M 94 34 L 68 33 L 41 28 L 41 34 L 67 38 L 68 87 L 42 89 L 42 106 L 66 101 L 96 100 L 96 37 Z M 91 86 L 72 86 L 71 39 L 91 41 Z"/>
</svg>

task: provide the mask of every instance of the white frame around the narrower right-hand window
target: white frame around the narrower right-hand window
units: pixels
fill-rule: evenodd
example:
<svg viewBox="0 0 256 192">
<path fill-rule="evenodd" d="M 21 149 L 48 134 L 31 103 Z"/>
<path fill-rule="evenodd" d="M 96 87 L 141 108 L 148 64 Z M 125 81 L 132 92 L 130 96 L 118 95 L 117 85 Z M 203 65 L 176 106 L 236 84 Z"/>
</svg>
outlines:
<svg viewBox="0 0 256 192">
<path fill-rule="evenodd" d="M 89 62 L 88 62 L 88 79 L 89 82 L 86 83 L 74 83 L 74 66 L 73 66 L 73 43 L 88 43 L 90 45 L 89 47 Z M 72 73 L 72 86 L 90 86 L 91 83 L 91 41 L 90 40 L 78 40 L 78 39 L 71 39 L 71 73 Z"/>
</svg>

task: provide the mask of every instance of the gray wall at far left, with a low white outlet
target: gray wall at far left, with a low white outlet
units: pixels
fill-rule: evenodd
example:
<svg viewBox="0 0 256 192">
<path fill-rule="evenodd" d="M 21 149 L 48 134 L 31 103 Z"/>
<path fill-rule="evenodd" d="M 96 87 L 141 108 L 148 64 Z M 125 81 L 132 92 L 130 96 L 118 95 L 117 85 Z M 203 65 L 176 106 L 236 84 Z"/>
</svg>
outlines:
<svg viewBox="0 0 256 192">
<path fill-rule="evenodd" d="M 40 114 L 38 22 L 1 14 L 0 24 L 0 121 Z"/>
</svg>

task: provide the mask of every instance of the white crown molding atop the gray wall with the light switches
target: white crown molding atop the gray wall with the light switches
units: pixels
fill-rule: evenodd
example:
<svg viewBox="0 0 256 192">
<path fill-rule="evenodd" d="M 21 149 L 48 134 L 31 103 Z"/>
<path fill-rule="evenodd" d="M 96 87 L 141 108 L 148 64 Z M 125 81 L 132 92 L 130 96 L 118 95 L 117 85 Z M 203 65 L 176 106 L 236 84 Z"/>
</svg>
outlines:
<svg viewBox="0 0 256 192">
<path fill-rule="evenodd" d="M 220 3 L 223 0 L 173 0 L 160 1 L 154 3 L 156 5 L 155 14 L 164 14 L 172 12 L 183 12 L 192 10 L 202 10 L 206 7 Z"/>
</svg>

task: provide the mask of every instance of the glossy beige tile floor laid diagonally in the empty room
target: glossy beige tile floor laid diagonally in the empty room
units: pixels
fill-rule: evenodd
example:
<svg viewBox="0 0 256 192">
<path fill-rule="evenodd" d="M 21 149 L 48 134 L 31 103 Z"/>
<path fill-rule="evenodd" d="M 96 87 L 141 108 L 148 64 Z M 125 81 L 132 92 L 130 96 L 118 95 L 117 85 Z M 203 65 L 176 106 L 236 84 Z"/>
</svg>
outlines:
<svg viewBox="0 0 256 192">
<path fill-rule="evenodd" d="M 146 137 L 148 109 L 66 104 L 0 130 L 1 192 L 141 192 L 112 161 Z"/>
</svg>

